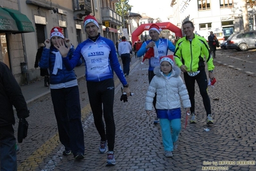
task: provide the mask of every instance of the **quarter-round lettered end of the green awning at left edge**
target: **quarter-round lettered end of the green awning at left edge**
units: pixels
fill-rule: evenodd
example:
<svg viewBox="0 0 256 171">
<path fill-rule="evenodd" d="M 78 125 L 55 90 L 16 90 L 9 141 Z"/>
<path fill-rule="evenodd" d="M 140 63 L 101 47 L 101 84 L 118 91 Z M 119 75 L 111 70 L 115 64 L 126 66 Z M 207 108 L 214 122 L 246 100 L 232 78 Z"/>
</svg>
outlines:
<svg viewBox="0 0 256 171">
<path fill-rule="evenodd" d="M 0 32 L 19 31 L 17 24 L 12 16 L 0 8 Z"/>
</svg>

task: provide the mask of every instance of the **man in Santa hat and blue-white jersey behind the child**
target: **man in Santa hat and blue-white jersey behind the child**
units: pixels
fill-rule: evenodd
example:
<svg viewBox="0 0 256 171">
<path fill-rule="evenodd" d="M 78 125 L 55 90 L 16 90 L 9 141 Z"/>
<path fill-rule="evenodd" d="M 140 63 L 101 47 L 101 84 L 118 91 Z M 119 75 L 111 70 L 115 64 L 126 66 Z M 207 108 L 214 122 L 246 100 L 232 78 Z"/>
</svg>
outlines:
<svg viewBox="0 0 256 171">
<path fill-rule="evenodd" d="M 141 57 L 142 55 L 144 55 L 148 49 L 150 47 L 157 47 L 157 51 L 158 51 L 158 58 L 154 58 L 152 56 L 152 58 L 149 59 L 149 68 L 148 68 L 148 81 L 149 83 L 151 82 L 151 80 L 153 79 L 153 77 L 155 76 L 154 74 L 154 68 L 159 66 L 159 57 L 160 56 L 166 56 L 168 53 L 168 49 L 172 52 L 175 51 L 175 45 L 173 45 L 173 43 L 171 43 L 170 40 L 167 40 L 166 38 L 159 38 L 160 36 L 160 31 L 162 31 L 162 29 L 160 29 L 157 24 L 151 24 L 151 26 L 149 27 L 149 36 L 151 37 L 151 40 L 148 40 L 146 42 L 144 42 L 141 46 L 141 48 L 139 49 L 139 51 L 137 52 L 137 56 Z M 156 104 L 156 96 L 154 97 L 154 101 L 153 101 L 153 106 L 155 107 Z M 155 108 L 155 111 L 157 113 L 157 109 Z M 158 124 L 159 123 L 159 119 L 156 117 L 154 122 L 154 124 Z"/>
</svg>

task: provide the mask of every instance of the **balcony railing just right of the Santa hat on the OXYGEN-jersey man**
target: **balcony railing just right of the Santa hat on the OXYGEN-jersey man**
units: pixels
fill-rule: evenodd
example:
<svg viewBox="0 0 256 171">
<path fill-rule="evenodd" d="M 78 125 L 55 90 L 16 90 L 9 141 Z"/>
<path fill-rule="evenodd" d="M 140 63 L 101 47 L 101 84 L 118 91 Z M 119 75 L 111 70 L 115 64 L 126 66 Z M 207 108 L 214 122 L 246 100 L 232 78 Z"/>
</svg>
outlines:
<svg viewBox="0 0 256 171">
<path fill-rule="evenodd" d="M 110 24 L 122 25 L 122 17 L 108 7 L 101 8 L 102 21 L 109 21 Z"/>
</svg>

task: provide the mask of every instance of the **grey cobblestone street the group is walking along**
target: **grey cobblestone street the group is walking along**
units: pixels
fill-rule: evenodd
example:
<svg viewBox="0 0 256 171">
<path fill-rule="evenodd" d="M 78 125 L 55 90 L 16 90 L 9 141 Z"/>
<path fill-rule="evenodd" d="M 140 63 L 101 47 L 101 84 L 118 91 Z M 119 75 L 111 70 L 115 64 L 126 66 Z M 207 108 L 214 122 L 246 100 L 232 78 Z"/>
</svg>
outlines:
<svg viewBox="0 0 256 171">
<path fill-rule="evenodd" d="M 105 167 L 107 154 L 98 152 L 100 137 L 94 126 L 86 82 L 80 79 L 85 159 L 75 161 L 73 155 L 62 156 L 64 147 L 58 140 L 51 97 L 47 97 L 30 104 L 28 137 L 19 143 L 21 151 L 17 153 L 18 170 L 256 170 L 255 53 L 248 51 L 250 56 L 246 57 L 241 55 L 244 52 L 218 49 L 214 58 L 217 82 L 209 87 L 215 124 L 207 126 L 196 86 L 198 123 L 184 129 L 182 109 L 182 131 L 173 158 L 164 156 L 160 125 L 153 124 L 155 112 L 147 115 L 144 111 L 148 61 L 141 64 L 133 57 L 127 79 L 134 95 L 128 102 L 120 101 L 121 85 L 115 78 L 114 167 Z"/>
</svg>

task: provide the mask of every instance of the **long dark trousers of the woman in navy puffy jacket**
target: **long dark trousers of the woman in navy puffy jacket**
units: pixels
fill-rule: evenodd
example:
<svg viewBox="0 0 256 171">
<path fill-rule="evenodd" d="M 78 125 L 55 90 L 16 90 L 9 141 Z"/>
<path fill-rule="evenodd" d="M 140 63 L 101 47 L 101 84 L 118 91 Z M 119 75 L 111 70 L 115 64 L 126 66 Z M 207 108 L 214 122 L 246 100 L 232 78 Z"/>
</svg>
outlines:
<svg viewBox="0 0 256 171">
<path fill-rule="evenodd" d="M 60 142 L 65 150 L 84 154 L 83 127 L 78 86 L 51 89 Z"/>
</svg>

